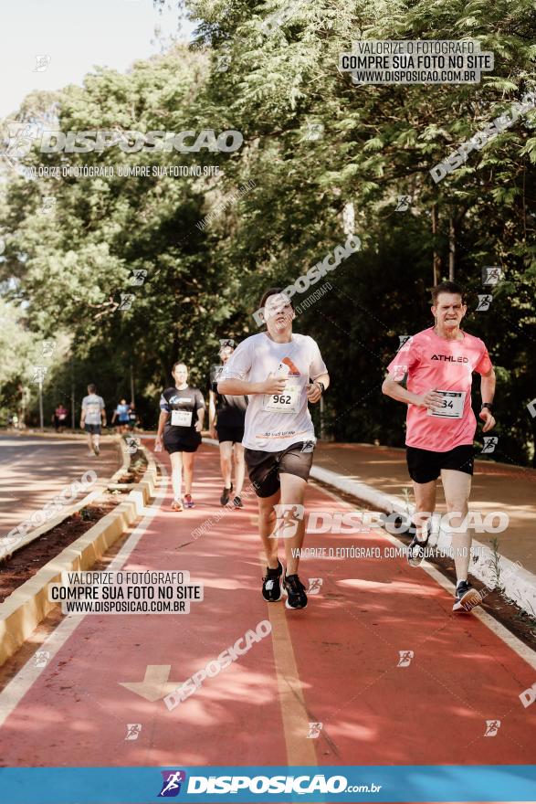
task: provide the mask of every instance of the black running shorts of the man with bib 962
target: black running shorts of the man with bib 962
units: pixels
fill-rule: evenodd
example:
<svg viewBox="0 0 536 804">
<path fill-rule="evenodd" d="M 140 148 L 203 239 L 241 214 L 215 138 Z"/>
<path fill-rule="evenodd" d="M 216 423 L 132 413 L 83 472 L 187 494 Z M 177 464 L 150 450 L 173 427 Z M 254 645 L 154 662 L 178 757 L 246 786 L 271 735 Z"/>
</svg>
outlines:
<svg viewBox="0 0 536 804">
<path fill-rule="evenodd" d="M 271 497 L 279 492 L 281 472 L 309 480 L 313 450 L 312 441 L 299 441 L 279 452 L 244 450 L 247 473 L 257 497 Z"/>
</svg>

